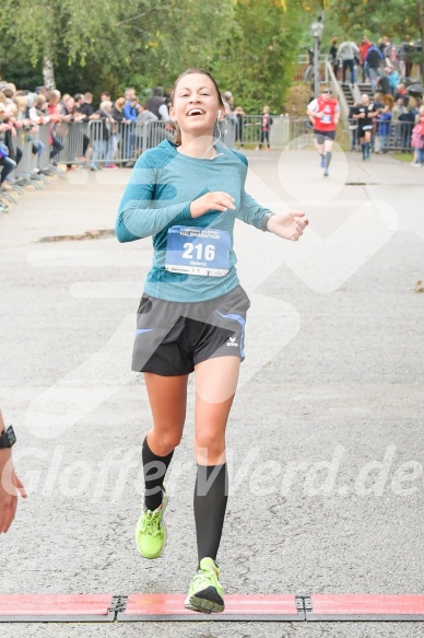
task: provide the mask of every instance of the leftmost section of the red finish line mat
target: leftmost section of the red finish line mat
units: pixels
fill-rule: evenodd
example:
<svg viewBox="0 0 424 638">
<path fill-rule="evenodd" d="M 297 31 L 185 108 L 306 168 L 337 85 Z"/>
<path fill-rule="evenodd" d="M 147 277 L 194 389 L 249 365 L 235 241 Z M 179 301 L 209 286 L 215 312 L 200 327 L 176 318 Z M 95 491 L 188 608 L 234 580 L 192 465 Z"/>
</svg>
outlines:
<svg viewBox="0 0 424 638">
<path fill-rule="evenodd" d="M 0 623 L 115 620 L 111 595 L 1 595 Z"/>
</svg>

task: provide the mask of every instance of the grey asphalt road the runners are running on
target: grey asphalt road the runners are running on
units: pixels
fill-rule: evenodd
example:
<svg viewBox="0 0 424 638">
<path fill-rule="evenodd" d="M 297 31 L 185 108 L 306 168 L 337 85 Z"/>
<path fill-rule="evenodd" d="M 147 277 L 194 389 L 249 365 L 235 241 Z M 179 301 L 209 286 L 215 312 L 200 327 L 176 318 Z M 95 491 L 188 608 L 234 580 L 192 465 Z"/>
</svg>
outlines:
<svg viewBox="0 0 424 638">
<path fill-rule="evenodd" d="M 423 592 L 424 171 L 308 150 L 250 153 L 249 192 L 305 210 L 290 244 L 239 223 L 251 298 L 228 425 L 227 593 Z M 169 541 L 133 543 L 150 411 L 129 371 L 151 242 L 114 228 L 129 171 L 78 171 L 0 217 L 0 405 L 28 487 L 2 593 L 185 593 L 196 569 L 192 384 L 168 478 Z M 5 638 L 421 637 L 422 623 L 1 625 Z"/>
</svg>

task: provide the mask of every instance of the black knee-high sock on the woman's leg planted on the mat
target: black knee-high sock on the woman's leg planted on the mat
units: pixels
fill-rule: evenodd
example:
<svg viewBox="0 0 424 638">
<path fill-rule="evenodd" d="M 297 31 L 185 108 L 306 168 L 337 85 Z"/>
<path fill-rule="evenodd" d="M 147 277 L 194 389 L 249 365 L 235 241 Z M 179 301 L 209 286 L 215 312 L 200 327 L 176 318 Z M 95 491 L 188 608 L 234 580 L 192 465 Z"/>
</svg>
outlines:
<svg viewBox="0 0 424 638">
<path fill-rule="evenodd" d="M 198 465 L 193 503 L 199 564 L 207 557 L 216 560 L 227 499 L 226 463 Z"/>
</svg>

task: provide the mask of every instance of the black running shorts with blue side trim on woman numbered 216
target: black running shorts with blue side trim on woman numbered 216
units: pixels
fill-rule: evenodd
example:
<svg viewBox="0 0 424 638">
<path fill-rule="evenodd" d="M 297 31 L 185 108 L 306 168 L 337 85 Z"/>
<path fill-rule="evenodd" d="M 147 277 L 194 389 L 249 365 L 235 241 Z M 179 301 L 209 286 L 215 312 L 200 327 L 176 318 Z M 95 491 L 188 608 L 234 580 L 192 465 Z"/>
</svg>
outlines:
<svg viewBox="0 0 424 638">
<path fill-rule="evenodd" d="M 132 370 L 178 376 L 189 374 L 207 359 L 229 356 L 243 361 L 249 306 L 242 286 L 216 299 L 193 303 L 144 293 L 137 311 Z"/>
</svg>

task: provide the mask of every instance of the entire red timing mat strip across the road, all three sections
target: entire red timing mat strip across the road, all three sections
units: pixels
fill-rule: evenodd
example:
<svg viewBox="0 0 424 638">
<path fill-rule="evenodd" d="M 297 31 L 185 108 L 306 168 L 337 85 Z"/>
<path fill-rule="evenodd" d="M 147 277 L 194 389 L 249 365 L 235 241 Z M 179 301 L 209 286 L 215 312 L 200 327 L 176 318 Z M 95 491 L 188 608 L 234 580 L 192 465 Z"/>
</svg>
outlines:
<svg viewBox="0 0 424 638">
<path fill-rule="evenodd" d="M 424 595 L 247 594 L 225 596 L 222 614 L 184 607 L 184 594 L 0 595 L 0 623 L 157 620 L 424 620 Z"/>
</svg>

